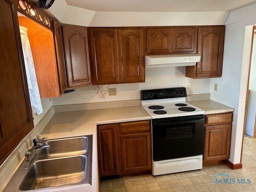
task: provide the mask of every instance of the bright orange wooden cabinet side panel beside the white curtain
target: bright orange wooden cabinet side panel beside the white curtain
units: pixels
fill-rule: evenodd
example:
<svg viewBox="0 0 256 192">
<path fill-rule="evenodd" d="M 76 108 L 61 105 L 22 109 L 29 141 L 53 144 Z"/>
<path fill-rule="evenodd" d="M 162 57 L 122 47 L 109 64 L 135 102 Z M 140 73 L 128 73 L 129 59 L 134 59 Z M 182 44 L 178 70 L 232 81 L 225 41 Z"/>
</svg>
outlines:
<svg viewBox="0 0 256 192">
<path fill-rule="evenodd" d="M 28 28 L 40 98 L 59 97 L 60 88 L 52 31 L 23 16 L 19 16 L 19 24 Z"/>
</svg>

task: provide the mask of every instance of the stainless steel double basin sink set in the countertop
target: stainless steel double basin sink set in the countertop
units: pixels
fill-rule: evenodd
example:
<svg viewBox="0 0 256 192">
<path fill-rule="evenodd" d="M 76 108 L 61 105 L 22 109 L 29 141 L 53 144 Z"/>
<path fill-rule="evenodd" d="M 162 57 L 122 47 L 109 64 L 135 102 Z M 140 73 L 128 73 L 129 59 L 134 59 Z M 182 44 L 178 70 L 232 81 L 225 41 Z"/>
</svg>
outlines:
<svg viewBox="0 0 256 192">
<path fill-rule="evenodd" d="M 20 191 L 56 191 L 92 184 L 92 135 L 44 140 L 24 174 Z M 14 176 L 15 176 L 14 174 Z"/>
</svg>

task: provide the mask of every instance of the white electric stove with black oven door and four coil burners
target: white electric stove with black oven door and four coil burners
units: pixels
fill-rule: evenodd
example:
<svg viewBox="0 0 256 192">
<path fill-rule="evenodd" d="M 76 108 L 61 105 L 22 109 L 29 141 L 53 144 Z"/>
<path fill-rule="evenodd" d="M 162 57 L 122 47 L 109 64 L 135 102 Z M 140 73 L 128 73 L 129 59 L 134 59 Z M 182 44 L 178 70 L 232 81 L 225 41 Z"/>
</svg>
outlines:
<svg viewBox="0 0 256 192">
<path fill-rule="evenodd" d="M 152 116 L 153 175 L 202 168 L 204 110 L 186 102 L 186 88 L 142 90 Z"/>
</svg>

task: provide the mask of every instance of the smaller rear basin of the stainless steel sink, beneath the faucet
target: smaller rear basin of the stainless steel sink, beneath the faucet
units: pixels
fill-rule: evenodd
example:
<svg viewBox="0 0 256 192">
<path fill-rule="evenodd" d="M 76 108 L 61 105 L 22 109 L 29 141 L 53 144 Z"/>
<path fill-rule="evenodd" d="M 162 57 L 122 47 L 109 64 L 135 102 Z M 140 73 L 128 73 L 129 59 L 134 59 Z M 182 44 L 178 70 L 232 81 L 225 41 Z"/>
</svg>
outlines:
<svg viewBox="0 0 256 192">
<path fill-rule="evenodd" d="M 44 148 L 35 156 L 36 160 L 82 155 L 87 152 L 88 136 L 46 140 Z"/>
</svg>

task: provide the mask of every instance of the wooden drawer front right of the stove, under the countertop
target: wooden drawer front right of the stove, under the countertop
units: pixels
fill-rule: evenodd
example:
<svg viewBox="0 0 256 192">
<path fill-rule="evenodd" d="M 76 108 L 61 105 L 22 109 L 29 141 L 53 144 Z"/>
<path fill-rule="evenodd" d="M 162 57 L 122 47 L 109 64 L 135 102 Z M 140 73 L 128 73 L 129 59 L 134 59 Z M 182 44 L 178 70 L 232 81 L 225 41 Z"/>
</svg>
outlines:
<svg viewBox="0 0 256 192">
<path fill-rule="evenodd" d="M 205 124 L 223 124 L 223 123 L 231 123 L 232 122 L 232 113 L 221 113 L 221 114 L 213 114 L 206 115 Z"/>
</svg>

